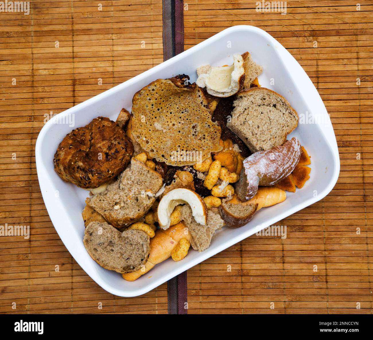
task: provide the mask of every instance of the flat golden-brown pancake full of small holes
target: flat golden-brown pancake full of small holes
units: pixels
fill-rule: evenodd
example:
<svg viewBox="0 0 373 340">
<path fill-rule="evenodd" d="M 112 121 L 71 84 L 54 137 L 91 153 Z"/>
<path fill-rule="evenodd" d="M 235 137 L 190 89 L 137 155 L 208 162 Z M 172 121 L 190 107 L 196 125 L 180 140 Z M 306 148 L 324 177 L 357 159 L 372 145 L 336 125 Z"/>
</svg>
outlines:
<svg viewBox="0 0 373 340">
<path fill-rule="evenodd" d="M 222 149 L 221 129 L 211 116 L 208 100 L 196 84 L 158 79 L 135 94 L 131 131 L 157 161 L 194 165 Z"/>
</svg>

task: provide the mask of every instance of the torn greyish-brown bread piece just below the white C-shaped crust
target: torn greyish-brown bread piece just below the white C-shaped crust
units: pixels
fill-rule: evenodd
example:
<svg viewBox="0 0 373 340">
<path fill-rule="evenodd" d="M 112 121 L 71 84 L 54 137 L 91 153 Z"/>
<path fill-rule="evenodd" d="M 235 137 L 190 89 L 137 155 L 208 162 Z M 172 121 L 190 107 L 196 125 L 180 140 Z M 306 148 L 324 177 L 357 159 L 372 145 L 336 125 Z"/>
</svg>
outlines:
<svg viewBox="0 0 373 340">
<path fill-rule="evenodd" d="M 188 204 L 181 209 L 181 218 L 188 227 L 191 235 L 191 245 L 198 252 L 203 252 L 210 246 L 211 238 L 216 230 L 223 227 L 224 221 L 219 215 L 217 208 L 211 208 L 207 211 L 207 223 L 201 225 L 197 223 L 192 215 L 192 209 Z"/>
</svg>

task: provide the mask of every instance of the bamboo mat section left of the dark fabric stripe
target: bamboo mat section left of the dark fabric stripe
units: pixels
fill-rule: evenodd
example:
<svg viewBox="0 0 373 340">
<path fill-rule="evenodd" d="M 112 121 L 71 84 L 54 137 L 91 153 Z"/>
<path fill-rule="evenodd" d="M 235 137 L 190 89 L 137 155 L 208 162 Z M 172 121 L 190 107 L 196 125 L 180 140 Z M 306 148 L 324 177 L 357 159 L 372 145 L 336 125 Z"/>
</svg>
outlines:
<svg viewBox="0 0 373 340">
<path fill-rule="evenodd" d="M 33 1 L 29 15 L 0 19 L 0 225 L 31 226 L 28 240 L 0 237 L 0 312 L 167 313 L 166 284 L 119 298 L 72 259 L 44 206 L 34 155 L 44 115 L 163 62 L 162 1 Z"/>
</svg>

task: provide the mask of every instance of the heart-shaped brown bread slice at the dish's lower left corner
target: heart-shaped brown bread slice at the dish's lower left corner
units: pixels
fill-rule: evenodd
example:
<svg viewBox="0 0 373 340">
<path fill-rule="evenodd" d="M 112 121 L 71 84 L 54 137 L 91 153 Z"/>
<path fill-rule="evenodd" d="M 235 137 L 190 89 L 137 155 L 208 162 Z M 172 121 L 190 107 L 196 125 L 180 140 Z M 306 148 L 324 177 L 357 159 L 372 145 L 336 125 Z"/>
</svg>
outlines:
<svg viewBox="0 0 373 340">
<path fill-rule="evenodd" d="M 83 243 L 101 267 L 122 274 L 140 269 L 148 261 L 150 251 L 150 238 L 144 231 L 121 233 L 106 222 L 88 224 Z"/>
</svg>

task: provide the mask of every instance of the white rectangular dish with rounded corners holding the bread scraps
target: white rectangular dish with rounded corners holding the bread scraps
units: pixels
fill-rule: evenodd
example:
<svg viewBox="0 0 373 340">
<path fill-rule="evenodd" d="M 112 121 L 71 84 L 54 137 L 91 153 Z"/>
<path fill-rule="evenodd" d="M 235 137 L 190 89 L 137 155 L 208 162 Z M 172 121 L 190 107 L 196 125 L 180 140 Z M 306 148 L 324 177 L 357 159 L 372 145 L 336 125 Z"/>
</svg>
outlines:
<svg viewBox="0 0 373 340">
<path fill-rule="evenodd" d="M 217 231 L 211 246 L 204 252 L 198 253 L 191 249 L 182 261 L 168 259 L 136 281 L 125 281 L 120 274 L 100 267 L 83 244 L 84 222 L 81 212 L 88 191 L 63 182 L 54 171 L 53 156 L 60 141 L 73 128 L 82 127 L 98 116 L 115 121 L 122 107 L 131 110 L 134 94 L 151 81 L 187 74 L 194 82 L 198 66 L 230 65 L 233 53 L 245 51 L 250 52 L 254 61 L 264 68 L 258 78 L 259 83 L 284 96 L 298 112 L 300 123 L 290 137 L 298 137 L 311 156 L 310 180 L 295 193 L 286 193 L 287 199 L 284 202 L 261 209 L 244 227 L 224 227 Z M 57 233 L 76 262 L 97 284 L 118 296 L 147 293 L 264 227 L 319 201 L 332 190 L 339 175 L 337 143 L 319 93 L 294 57 L 273 37 L 253 26 L 225 29 L 137 77 L 59 113 L 57 119 L 68 122 L 71 115 L 75 119 L 73 127 L 69 124 L 54 124 L 52 119 L 44 125 L 38 136 L 35 155 L 41 193 Z"/>
</svg>

